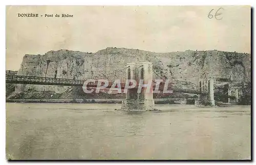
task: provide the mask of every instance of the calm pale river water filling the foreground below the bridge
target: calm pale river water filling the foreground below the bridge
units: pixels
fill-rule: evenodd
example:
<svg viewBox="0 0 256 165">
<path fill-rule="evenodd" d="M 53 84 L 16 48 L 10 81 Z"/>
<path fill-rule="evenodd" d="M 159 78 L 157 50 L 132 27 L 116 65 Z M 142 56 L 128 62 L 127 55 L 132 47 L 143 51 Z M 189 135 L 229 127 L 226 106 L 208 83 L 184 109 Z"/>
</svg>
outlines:
<svg viewBox="0 0 256 165">
<path fill-rule="evenodd" d="M 7 103 L 12 159 L 248 159 L 250 106 Z"/>
</svg>

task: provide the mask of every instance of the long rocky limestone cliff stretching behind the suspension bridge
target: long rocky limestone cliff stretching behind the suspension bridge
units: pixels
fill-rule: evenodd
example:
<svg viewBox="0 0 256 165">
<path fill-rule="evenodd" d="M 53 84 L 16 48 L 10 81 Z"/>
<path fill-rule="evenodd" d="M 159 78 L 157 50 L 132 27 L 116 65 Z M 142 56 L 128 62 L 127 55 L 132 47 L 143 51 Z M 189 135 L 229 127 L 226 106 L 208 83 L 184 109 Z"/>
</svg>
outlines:
<svg viewBox="0 0 256 165">
<path fill-rule="evenodd" d="M 83 79 L 110 74 L 125 68 L 128 62 L 150 61 L 158 75 L 183 80 L 177 82 L 177 87 L 196 89 L 200 75 L 209 70 L 216 77 L 249 82 L 250 57 L 248 53 L 218 50 L 156 53 L 109 47 L 88 53 L 62 49 L 42 55 L 26 54 L 17 75 Z M 8 93 L 7 97 L 81 98 L 87 95 L 78 87 L 16 85 L 15 91 Z"/>
</svg>

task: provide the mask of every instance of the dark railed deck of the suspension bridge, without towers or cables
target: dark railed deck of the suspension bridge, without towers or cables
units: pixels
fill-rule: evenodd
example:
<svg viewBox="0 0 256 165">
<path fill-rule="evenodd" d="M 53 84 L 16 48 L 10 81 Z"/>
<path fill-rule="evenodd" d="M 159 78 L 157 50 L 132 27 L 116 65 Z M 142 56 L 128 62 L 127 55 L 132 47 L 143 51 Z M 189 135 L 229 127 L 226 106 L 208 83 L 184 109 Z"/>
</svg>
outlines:
<svg viewBox="0 0 256 165">
<path fill-rule="evenodd" d="M 68 78 L 51 78 L 51 77 L 37 77 L 37 76 L 23 76 L 23 75 L 6 75 L 6 83 L 7 84 L 31 84 L 31 85 L 52 85 L 52 86 L 79 86 L 82 87 L 86 80 L 82 79 L 68 79 Z M 87 87 L 97 87 L 98 81 L 89 82 Z M 101 82 L 101 86 L 104 85 L 104 82 Z M 109 82 L 108 87 L 111 88 L 113 82 Z M 126 84 L 121 83 L 121 89 L 124 89 Z M 117 87 L 117 86 L 116 86 Z M 136 86 L 135 88 L 138 88 Z M 155 86 L 153 86 L 153 90 Z M 177 89 L 172 88 L 173 93 L 181 92 L 181 93 L 194 93 L 201 94 L 196 90 L 189 89 Z M 163 86 L 159 87 L 159 91 L 163 91 Z"/>
</svg>

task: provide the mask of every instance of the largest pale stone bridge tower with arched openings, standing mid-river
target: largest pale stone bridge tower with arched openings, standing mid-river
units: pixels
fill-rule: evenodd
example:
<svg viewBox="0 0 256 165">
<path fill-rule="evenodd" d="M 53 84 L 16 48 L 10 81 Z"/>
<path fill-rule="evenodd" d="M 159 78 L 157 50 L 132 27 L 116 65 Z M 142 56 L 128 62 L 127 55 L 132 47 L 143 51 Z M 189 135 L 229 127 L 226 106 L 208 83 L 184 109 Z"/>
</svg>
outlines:
<svg viewBox="0 0 256 165">
<path fill-rule="evenodd" d="M 126 99 L 122 101 L 122 109 L 129 111 L 153 109 L 155 104 L 152 88 L 153 64 L 151 62 L 127 63 L 126 67 L 126 78 L 136 80 L 138 86 L 127 90 Z"/>
</svg>

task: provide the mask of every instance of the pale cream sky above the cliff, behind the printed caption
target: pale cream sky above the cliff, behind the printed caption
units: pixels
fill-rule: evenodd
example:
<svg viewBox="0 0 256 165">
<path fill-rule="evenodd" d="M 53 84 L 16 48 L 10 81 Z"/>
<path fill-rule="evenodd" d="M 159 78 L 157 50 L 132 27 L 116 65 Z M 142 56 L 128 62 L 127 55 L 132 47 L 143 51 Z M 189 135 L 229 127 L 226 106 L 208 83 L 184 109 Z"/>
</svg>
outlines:
<svg viewBox="0 0 256 165">
<path fill-rule="evenodd" d="M 214 15 L 219 10 L 221 15 Z M 213 18 L 209 19 L 211 12 Z M 222 50 L 250 53 L 249 6 L 9 6 L 6 69 L 18 70 L 25 54 L 106 47 L 154 52 Z M 18 17 L 38 13 L 39 17 Z M 45 14 L 59 14 L 47 18 Z M 73 18 L 61 18 L 71 14 Z M 40 15 L 43 15 L 40 17 Z"/>
</svg>

